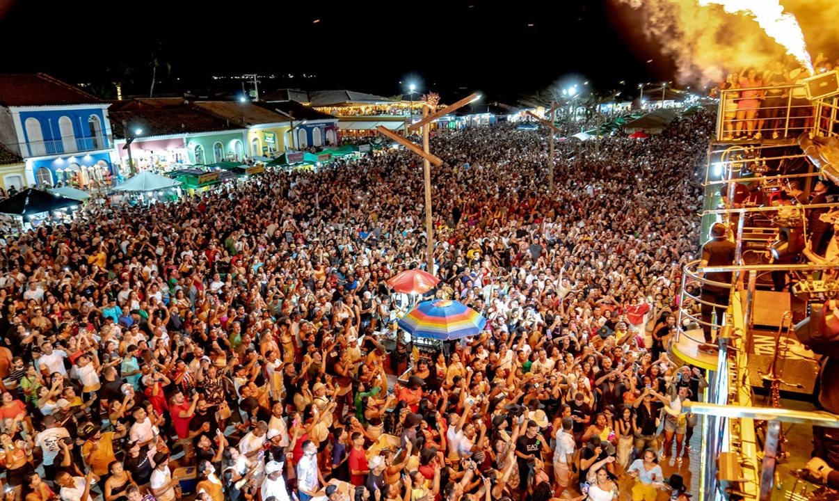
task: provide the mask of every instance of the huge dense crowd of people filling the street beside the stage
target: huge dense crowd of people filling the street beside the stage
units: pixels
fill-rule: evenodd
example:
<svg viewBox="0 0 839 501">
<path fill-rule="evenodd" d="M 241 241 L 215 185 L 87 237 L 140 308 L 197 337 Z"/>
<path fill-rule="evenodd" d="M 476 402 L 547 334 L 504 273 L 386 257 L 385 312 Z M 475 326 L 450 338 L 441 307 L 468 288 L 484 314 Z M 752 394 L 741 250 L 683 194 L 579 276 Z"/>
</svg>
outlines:
<svg viewBox="0 0 839 501">
<path fill-rule="evenodd" d="M 386 284 L 425 266 L 404 150 L 5 238 L 5 501 L 685 493 L 659 462 L 706 381 L 667 348 L 712 126 L 560 144 L 553 192 L 544 133 L 435 135 L 430 295 L 487 326 L 421 350 Z"/>
</svg>

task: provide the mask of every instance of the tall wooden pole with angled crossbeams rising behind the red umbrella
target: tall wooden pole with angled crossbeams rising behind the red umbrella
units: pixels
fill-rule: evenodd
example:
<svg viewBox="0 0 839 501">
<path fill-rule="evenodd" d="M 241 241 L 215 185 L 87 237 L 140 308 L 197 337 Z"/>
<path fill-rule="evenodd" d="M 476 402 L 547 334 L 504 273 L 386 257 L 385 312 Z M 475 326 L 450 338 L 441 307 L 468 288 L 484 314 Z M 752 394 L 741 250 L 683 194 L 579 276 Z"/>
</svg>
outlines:
<svg viewBox="0 0 839 501">
<path fill-rule="evenodd" d="M 430 274 L 434 274 L 434 222 L 431 218 L 431 164 L 435 164 L 437 167 L 443 164 L 443 160 L 431 154 L 429 151 L 430 126 L 437 118 L 445 117 L 449 113 L 456 112 L 461 107 L 465 107 L 471 102 L 476 102 L 480 98 L 480 94 L 472 94 L 451 106 L 447 106 L 433 113 L 429 111 L 428 102 L 423 102 L 422 120 L 417 123 L 412 123 L 407 131 L 407 133 L 413 133 L 416 129 L 422 128 L 422 148 L 410 142 L 408 139 L 399 136 L 399 134 L 391 132 L 388 128 L 383 126 L 376 128 L 376 132 L 393 139 L 393 141 L 402 144 L 405 148 L 423 158 L 423 178 L 425 181 L 425 240 L 427 242 L 425 257 L 427 271 Z"/>
</svg>

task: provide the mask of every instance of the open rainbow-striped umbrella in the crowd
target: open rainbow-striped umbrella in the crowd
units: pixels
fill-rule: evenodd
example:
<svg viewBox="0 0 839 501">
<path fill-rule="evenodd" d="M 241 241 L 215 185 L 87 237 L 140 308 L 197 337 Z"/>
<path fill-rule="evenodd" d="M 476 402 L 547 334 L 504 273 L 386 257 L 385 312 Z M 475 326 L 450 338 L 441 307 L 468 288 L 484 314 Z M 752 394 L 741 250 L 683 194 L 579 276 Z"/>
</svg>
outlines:
<svg viewBox="0 0 839 501">
<path fill-rule="evenodd" d="M 399 326 L 411 336 L 446 341 L 476 336 L 487 319 L 459 301 L 423 301 L 399 319 Z"/>
</svg>

